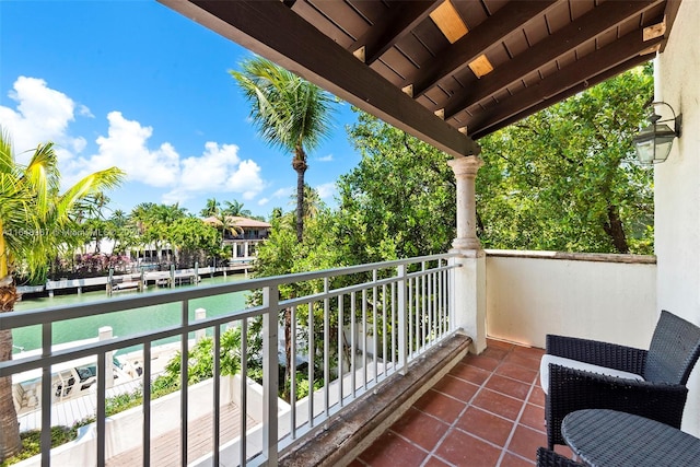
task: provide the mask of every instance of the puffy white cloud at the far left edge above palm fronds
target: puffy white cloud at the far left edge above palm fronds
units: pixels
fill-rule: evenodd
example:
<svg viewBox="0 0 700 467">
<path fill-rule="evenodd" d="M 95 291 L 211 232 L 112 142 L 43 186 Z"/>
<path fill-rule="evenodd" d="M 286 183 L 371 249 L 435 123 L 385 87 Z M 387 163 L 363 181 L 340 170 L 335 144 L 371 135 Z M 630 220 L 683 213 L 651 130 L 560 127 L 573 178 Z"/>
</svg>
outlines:
<svg viewBox="0 0 700 467">
<path fill-rule="evenodd" d="M 0 106 L 0 125 L 12 137 L 18 161 L 28 161 L 37 144 L 52 141 L 62 159 L 71 157 L 85 148 L 85 139 L 71 137 L 68 126 L 75 119 L 75 103 L 66 94 L 51 90 L 46 81 L 20 77 L 8 96 L 16 103 L 16 109 Z M 80 106 L 80 114 L 90 110 Z"/>
</svg>

